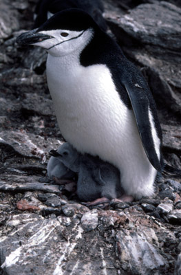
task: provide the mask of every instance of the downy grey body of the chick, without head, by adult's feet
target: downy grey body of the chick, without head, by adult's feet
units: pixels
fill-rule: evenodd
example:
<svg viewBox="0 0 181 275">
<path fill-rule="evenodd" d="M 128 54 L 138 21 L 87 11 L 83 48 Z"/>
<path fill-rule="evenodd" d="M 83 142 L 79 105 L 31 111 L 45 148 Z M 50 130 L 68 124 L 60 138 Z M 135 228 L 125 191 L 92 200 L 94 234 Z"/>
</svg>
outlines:
<svg viewBox="0 0 181 275">
<path fill-rule="evenodd" d="M 99 199 L 101 203 L 104 198 L 111 200 L 121 197 L 123 190 L 118 168 L 103 162 L 99 157 L 82 155 L 76 192 L 81 201 Z"/>
</svg>

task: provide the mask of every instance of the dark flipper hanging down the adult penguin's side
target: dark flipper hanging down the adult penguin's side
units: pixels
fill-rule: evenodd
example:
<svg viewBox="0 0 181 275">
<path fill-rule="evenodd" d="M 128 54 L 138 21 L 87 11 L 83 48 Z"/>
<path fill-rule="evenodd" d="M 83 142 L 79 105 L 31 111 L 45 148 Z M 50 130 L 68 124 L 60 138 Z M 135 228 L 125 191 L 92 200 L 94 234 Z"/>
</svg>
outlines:
<svg viewBox="0 0 181 275">
<path fill-rule="evenodd" d="M 144 89 L 136 84 L 133 85 L 129 81 L 124 80 L 123 85 L 127 91 L 131 106 L 136 118 L 136 124 L 142 140 L 142 145 L 145 148 L 145 153 L 156 170 L 161 171 L 160 160 L 156 153 L 156 148 L 151 133 L 151 122 L 149 120 L 149 98 L 144 92 Z"/>
</svg>

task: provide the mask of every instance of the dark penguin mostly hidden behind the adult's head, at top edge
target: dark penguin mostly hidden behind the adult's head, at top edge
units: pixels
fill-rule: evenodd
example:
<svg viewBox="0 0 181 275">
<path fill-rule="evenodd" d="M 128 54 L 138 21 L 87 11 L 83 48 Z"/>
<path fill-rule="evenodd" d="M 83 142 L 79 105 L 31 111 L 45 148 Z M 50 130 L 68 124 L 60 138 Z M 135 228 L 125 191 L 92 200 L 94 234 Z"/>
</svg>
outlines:
<svg viewBox="0 0 181 275">
<path fill-rule="evenodd" d="M 107 24 L 103 18 L 104 5 L 101 0 L 39 0 L 34 12 L 34 28 L 39 28 L 56 12 L 70 8 L 84 10 L 93 17 L 103 31 L 107 30 Z"/>
</svg>

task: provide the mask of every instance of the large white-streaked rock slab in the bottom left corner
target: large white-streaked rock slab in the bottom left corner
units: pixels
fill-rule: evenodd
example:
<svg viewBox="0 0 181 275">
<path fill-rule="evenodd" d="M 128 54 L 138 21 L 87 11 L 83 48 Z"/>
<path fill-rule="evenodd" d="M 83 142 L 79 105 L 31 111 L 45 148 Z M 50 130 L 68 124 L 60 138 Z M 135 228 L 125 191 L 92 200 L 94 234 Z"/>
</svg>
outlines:
<svg viewBox="0 0 181 275">
<path fill-rule="evenodd" d="M 8 275 L 61 274 L 65 263 L 63 259 L 72 254 L 83 231 L 75 223 L 74 237 L 69 236 L 71 230 L 66 236 L 63 228 L 65 224 L 70 224 L 68 219 L 43 219 L 37 214 L 14 215 L 6 223 L 8 233 L 0 241 L 3 271 Z"/>
</svg>

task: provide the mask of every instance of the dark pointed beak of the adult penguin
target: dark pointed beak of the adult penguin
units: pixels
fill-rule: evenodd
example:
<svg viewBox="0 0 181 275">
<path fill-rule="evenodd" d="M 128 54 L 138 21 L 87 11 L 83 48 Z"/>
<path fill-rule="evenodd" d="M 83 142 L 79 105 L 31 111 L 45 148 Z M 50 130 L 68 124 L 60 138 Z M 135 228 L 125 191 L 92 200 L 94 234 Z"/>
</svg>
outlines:
<svg viewBox="0 0 181 275">
<path fill-rule="evenodd" d="M 24 32 L 17 37 L 17 44 L 19 45 L 32 45 L 43 40 L 52 39 L 53 36 L 47 34 L 41 34 L 37 32 L 38 29 L 30 30 L 30 32 Z"/>
</svg>

